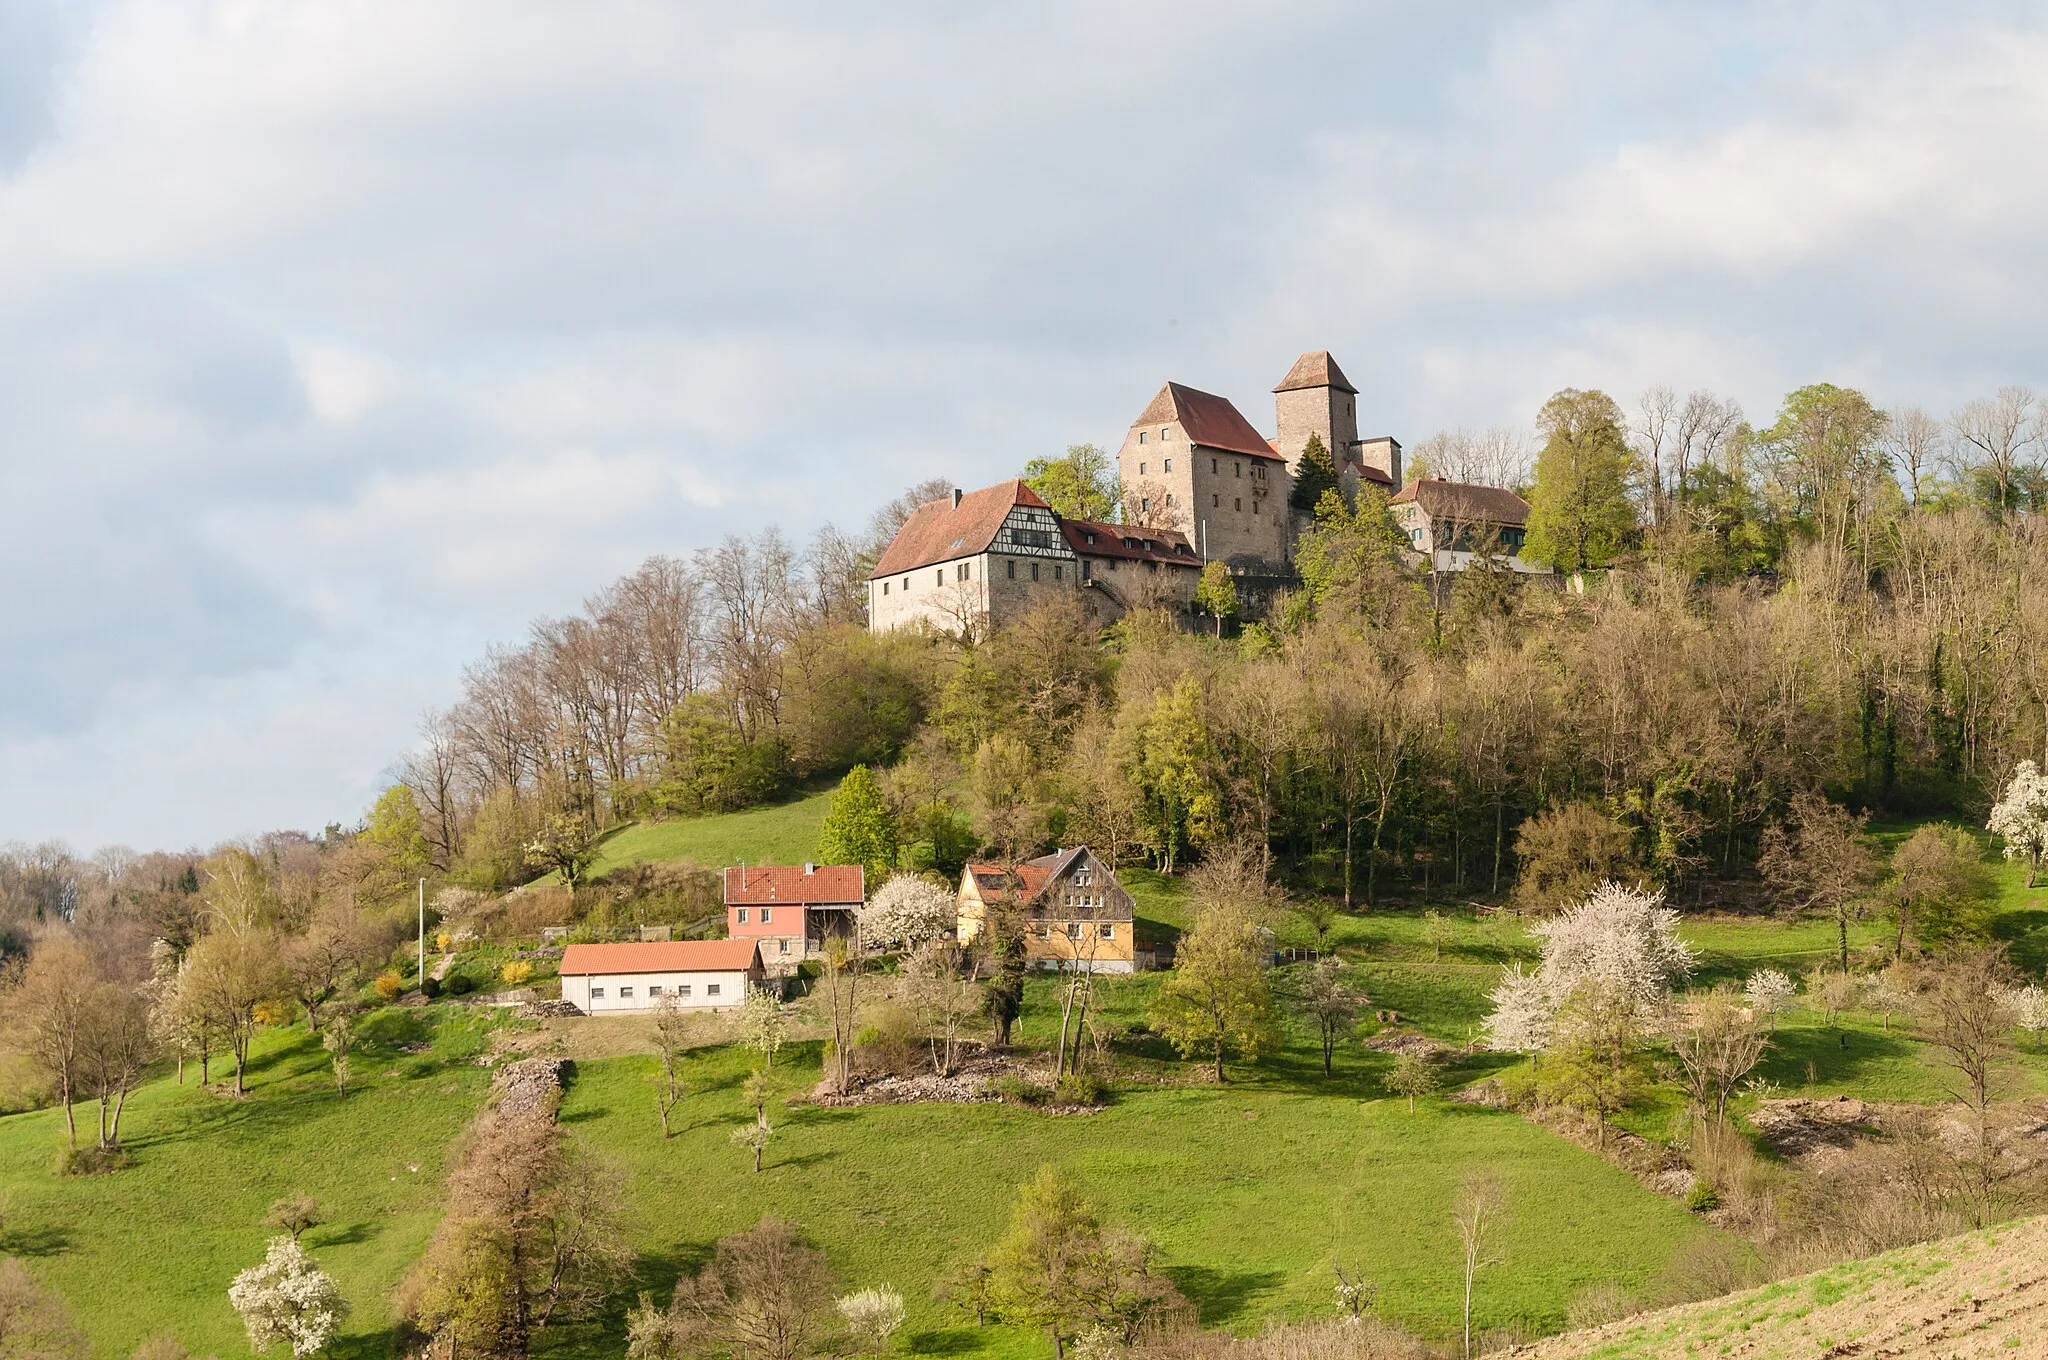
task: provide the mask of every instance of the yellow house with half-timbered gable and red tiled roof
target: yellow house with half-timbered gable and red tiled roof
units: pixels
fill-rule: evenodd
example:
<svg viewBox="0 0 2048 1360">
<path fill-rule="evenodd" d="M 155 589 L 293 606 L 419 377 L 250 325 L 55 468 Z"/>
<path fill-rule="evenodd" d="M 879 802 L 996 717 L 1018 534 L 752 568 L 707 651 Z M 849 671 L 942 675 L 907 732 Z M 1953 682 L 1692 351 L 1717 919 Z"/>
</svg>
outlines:
<svg viewBox="0 0 2048 1360">
<path fill-rule="evenodd" d="M 961 875 L 963 944 L 987 928 L 991 911 L 1016 911 L 1032 969 L 1137 969 L 1137 903 L 1087 846 L 1042 854 L 1016 866 L 969 864 Z"/>
</svg>

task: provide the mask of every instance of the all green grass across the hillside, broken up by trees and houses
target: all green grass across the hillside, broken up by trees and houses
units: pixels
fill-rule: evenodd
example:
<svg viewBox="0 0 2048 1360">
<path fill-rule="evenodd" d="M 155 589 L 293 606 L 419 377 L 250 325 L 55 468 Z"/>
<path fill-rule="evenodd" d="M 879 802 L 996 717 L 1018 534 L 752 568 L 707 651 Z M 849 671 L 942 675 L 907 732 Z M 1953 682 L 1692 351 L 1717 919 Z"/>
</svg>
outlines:
<svg viewBox="0 0 2048 1360">
<path fill-rule="evenodd" d="M 801 860 L 815 850 L 827 795 L 733 817 L 637 825 L 606 842 L 608 862 L 694 858 L 707 864 Z M 2028 891 L 1999 866 L 1995 934 L 2015 961 L 2048 963 L 2048 889 Z M 1184 885 L 1145 870 L 1128 883 L 1141 932 L 1188 924 Z M 1759 967 L 1804 975 L 1833 957 L 1823 922 L 1702 918 L 1683 924 L 1700 950 L 1696 985 L 1739 983 Z M 1851 944 L 1878 952 L 1884 922 L 1864 922 Z M 1288 918 L 1284 948 L 1317 944 Z M 1446 905 L 1337 918 L 1321 948 L 1337 950 L 1380 1010 L 1464 1045 L 1477 1034 L 1505 963 L 1534 963 L 1536 940 L 1511 916 Z M 459 967 L 487 975 L 479 950 Z M 1042 1163 L 1071 1170 L 1104 1215 L 1161 1247 L 1169 1272 L 1210 1325 L 1257 1327 L 1274 1317 L 1329 1313 L 1335 1262 L 1358 1264 L 1380 1286 L 1382 1311 L 1446 1335 L 1456 1319 L 1450 1204 L 1473 1170 L 1499 1172 L 1511 1198 L 1503 1264 L 1481 1276 L 1479 1323 L 1526 1333 L 1563 1325 L 1573 1292 L 1614 1280 L 1649 1284 L 1688 1239 L 1710 1233 L 1669 1198 L 1509 1112 L 1423 1100 L 1380 1088 L 1389 1059 L 1339 1049 L 1323 1077 L 1313 1036 L 1290 1026 L 1286 1047 L 1235 1065 L 1217 1088 L 1137 1028 L 1159 975 L 1104 979 L 1096 1014 L 1120 1032 L 1130 1079 L 1096 1114 L 1053 1116 L 1012 1106 L 780 1106 L 766 1170 L 756 1176 L 731 1129 L 743 1118 L 739 1081 L 752 1055 L 709 1047 L 690 1059 L 690 1096 L 678 1137 L 657 1131 L 649 1057 L 580 1061 L 563 1104 L 569 1133 L 625 1172 L 623 1231 L 639 1258 L 635 1288 L 666 1297 L 721 1233 L 764 1213 L 805 1227 L 848 1286 L 893 1284 L 907 1305 L 911 1354 L 1040 1356 L 1040 1337 L 971 1319 L 936 1301 L 942 1280 L 1001 1231 L 1016 1186 Z M 1059 1026 L 1059 981 L 1030 979 L 1018 1026 L 1024 1045 L 1049 1045 Z M 94 1356 L 123 1358 L 158 1331 L 195 1354 L 238 1356 L 246 1342 L 227 1307 L 227 1282 L 262 1256 L 266 1206 L 315 1194 L 328 1223 L 307 1235 L 354 1305 L 334 1354 L 393 1354 L 387 1299 L 432 1233 L 451 1141 L 487 1092 L 475 1059 L 500 1022 L 461 1006 L 391 1008 L 365 1022 L 369 1045 L 346 1098 L 303 1024 L 260 1036 L 246 1100 L 184 1086 L 166 1073 L 131 1100 L 125 1131 L 133 1165 L 115 1176 L 51 1176 L 61 1120 L 43 1110 L 0 1118 L 0 1247 L 61 1292 L 94 1340 Z M 1454 1079 L 1513 1063 L 1475 1055 Z M 819 1075 L 815 1043 L 778 1059 L 784 1094 Z M 219 1075 L 219 1069 L 215 1069 Z M 1786 1016 L 1759 1069 L 1784 1094 L 1944 1100 L 1931 1051 L 1905 1024 L 1845 1014 Z M 2048 1090 L 2048 1055 L 2025 1051 L 2017 1086 Z M 1665 1137 L 1673 1102 L 1624 1116 Z M 88 1116 L 88 1110 L 80 1110 Z M 625 1309 L 557 1333 L 545 1354 L 623 1354 Z"/>
</svg>

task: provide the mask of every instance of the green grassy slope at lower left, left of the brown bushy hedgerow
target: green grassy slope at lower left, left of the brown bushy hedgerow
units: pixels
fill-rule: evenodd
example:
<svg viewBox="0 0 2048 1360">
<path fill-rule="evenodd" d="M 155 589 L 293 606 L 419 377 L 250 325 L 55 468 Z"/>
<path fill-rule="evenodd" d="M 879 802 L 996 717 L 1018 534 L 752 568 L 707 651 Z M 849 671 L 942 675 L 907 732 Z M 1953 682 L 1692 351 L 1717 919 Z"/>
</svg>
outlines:
<svg viewBox="0 0 2048 1360">
<path fill-rule="evenodd" d="M 346 1098 L 303 1026 L 266 1034 L 246 1100 L 199 1090 L 197 1067 L 186 1086 L 137 1092 L 123 1120 L 133 1165 L 117 1176 L 49 1174 L 55 1110 L 0 1118 L 4 1245 L 70 1301 L 96 1356 L 127 1356 L 158 1331 L 233 1356 L 248 1337 L 227 1282 L 262 1260 L 270 1202 L 313 1194 L 328 1223 L 305 1241 L 354 1305 L 332 1354 L 383 1356 L 383 1301 L 434 1229 L 449 1143 L 489 1081 L 469 1061 L 483 1024 L 442 1008 L 373 1016 Z M 408 1051 L 418 1045 L 430 1047 Z"/>
</svg>

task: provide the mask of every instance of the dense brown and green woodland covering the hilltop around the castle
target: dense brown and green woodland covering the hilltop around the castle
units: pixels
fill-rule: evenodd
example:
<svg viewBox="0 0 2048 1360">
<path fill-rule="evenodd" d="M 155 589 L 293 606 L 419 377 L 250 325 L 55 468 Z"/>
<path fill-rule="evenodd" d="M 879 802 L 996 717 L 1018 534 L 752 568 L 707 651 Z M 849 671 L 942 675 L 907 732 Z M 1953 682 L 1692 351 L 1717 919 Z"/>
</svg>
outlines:
<svg viewBox="0 0 2048 1360">
<path fill-rule="evenodd" d="M 1710 393 L 1626 414 L 1563 391 L 1532 467 L 1501 430 L 1415 451 L 1425 475 L 1524 490 L 1526 555 L 1559 576 L 1432 578 L 1374 492 L 1321 490 L 1298 590 L 1264 619 L 1210 596 L 1208 637 L 1157 614 L 1096 633 L 1061 598 L 983 635 L 868 635 L 866 565 L 932 481 L 860 537 L 649 559 L 471 666 L 360 827 L 248 850 L 283 918 L 418 875 L 502 891 L 573 881 L 621 821 L 866 764 L 913 868 L 1087 842 L 1176 870 L 1249 842 L 1352 905 L 1493 895 L 1532 817 L 1589 807 L 1626 832 L 1612 860 L 1714 899 L 1802 791 L 1982 823 L 2044 752 L 2042 420 L 2019 389 L 1937 422 L 1802 387 L 1763 428 Z M 1116 504 L 1087 447 L 1026 475 L 1069 512 Z M 197 858 L 14 848 L 0 916 L 176 940 L 166 916 L 217 877 Z"/>
</svg>

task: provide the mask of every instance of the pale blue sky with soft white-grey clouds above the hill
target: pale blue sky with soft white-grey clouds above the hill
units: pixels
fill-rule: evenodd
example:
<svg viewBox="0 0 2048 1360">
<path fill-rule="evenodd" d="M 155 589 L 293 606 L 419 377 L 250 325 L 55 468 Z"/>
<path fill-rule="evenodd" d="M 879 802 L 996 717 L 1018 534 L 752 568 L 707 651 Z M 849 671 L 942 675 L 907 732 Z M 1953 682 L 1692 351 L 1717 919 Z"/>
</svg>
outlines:
<svg viewBox="0 0 2048 1360">
<path fill-rule="evenodd" d="M 2038 4 L 0 0 L 0 842 L 352 821 L 647 553 L 1165 379 L 2042 383 L 2044 164 Z"/>
</svg>

